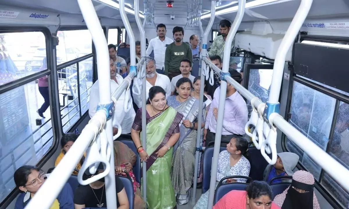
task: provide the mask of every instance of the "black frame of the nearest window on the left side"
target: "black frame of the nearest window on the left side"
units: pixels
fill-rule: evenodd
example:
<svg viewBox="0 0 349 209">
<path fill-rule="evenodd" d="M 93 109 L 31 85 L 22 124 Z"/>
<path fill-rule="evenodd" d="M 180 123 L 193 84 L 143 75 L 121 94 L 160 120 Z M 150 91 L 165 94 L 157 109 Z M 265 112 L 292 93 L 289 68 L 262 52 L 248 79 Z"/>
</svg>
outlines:
<svg viewBox="0 0 349 209">
<path fill-rule="evenodd" d="M 44 26 L 6 26 L 0 27 L 0 33 L 15 33 L 15 32 L 42 32 L 45 36 L 45 45 L 46 45 L 46 57 L 47 57 L 47 69 L 28 75 L 24 78 L 20 78 L 17 80 L 14 80 L 12 82 L 3 84 L 0 86 L 0 94 L 8 92 L 10 90 L 13 90 L 14 88 L 23 86 L 25 84 L 28 84 L 44 75 L 49 76 L 49 80 L 53 75 L 54 70 L 54 61 L 55 57 L 53 57 L 53 41 L 51 36 L 51 31 Z M 53 59 L 51 59 L 53 57 Z M 48 59 L 50 58 L 50 59 Z M 54 77 L 53 77 L 54 78 Z M 47 151 L 47 153 L 37 162 L 36 166 L 39 168 L 42 168 L 43 165 L 53 156 L 55 151 L 57 150 L 59 146 L 59 141 L 61 138 L 60 135 L 60 127 L 58 125 L 57 117 L 55 117 L 55 114 L 52 114 L 52 107 L 54 107 L 57 104 L 57 101 L 55 100 L 55 97 L 52 96 L 54 89 L 52 89 L 52 82 L 49 81 L 49 87 L 50 87 L 50 109 L 51 109 L 51 123 L 52 123 L 52 133 L 53 133 L 53 140 L 52 146 Z M 58 128 L 55 128 L 58 127 Z M 6 197 L 3 199 L 0 203 L 0 209 L 6 209 L 12 201 L 17 197 L 17 195 L 20 193 L 18 188 L 14 188 Z"/>
</svg>

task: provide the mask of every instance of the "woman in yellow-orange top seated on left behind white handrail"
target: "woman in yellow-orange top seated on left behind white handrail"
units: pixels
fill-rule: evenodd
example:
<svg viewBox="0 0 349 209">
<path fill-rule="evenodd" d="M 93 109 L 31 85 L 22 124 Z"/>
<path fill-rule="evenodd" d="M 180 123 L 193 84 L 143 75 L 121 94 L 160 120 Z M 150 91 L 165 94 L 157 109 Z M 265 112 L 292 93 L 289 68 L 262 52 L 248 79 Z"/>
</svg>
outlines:
<svg viewBox="0 0 349 209">
<path fill-rule="evenodd" d="M 54 162 L 54 166 L 57 166 L 58 163 L 62 160 L 62 158 L 64 157 L 64 155 L 68 152 L 68 150 L 70 149 L 70 147 L 74 144 L 74 142 L 77 139 L 77 135 L 75 133 L 67 133 L 64 134 L 62 139 L 61 139 L 61 146 L 62 146 L 62 151 L 61 153 L 58 155 L 56 161 Z M 76 165 L 75 169 L 76 170 L 80 170 L 82 163 L 84 162 L 86 157 L 86 153 L 84 153 L 84 155 L 82 156 L 80 162 Z M 73 171 L 74 175 L 77 175 L 77 171 Z"/>
</svg>

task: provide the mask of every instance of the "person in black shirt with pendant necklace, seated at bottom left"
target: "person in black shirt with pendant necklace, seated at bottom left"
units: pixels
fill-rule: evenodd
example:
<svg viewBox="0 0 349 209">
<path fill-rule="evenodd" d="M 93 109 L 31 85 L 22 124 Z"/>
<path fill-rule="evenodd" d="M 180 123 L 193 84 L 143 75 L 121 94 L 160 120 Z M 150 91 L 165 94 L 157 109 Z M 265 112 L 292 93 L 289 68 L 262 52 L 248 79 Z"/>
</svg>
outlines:
<svg viewBox="0 0 349 209">
<path fill-rule="evenodd" d="M 97 173 L 103 172 L 103 165 L 100 164 Z M 87 170 L 88 172 L 88 170 Z M 85 174 L 84 174 L 85 176 Z M 94 175 L 86 175 L 87 178 Z M 119 177 L 115 176 L 117 209 L 128 209 L 129 203 L 127 194 Z M 80 185 L 74 192 L 74 208 L 106 208 L 107 201 L 105 195 L 104 178 L 92 182 L 89 185 Z"/>
</svg>

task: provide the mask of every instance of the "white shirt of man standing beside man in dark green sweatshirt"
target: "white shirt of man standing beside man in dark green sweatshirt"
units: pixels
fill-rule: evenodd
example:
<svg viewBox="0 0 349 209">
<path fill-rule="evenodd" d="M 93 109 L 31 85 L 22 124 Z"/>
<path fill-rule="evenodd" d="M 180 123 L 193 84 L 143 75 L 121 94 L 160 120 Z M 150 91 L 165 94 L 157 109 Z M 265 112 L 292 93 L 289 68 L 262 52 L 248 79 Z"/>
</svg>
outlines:
<svg viewBox="0 0 349 209">
<path fill-rule="evenodd" d="M 151 51 L 154 51 L 156 69 L 162 69 L 165 66 L 166 45 L 172 44 L 172 42 L 173 40 L 166 36 L 164 41 L 161 41 L 158 36 L 149 41 L 147 56 L 150 55 Z"/>
</svg>

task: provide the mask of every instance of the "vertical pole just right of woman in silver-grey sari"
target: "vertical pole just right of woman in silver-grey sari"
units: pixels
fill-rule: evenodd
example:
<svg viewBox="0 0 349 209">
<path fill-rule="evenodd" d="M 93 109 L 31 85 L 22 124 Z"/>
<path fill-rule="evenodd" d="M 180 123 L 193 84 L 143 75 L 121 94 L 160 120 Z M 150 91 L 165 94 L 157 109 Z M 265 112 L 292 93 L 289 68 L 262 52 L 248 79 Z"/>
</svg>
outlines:
<svg viewBox="0 0 349 209">
<path fill-rule="evenodd" d="M 199 60 L 199 75 L 200 75 L 200 98 L 199 98 L 199 116 L 198 116 L 198 132 L 196 134 L 196 151 L 195 151 L 195 168 L 194 168 L 194 182 L 193 182 L 193 196 L 192 196 L 192 204 L 195 204 L 196 202 L 196 187 L 198 184 L 198 173 L 199 173 L 199 153 L 200 153 L 200 140 L 201 140 L 201 123 L 205 122 L 202 121 L 202 108 L 203 108 L 203 87 L 205 85 L 205 77 L 201 72 L 201 63 L 205 63 L 202 61 L 202 56 L 207 56 L 207 37 L 208 33 L 212 28 L 214 19 L 215 19 L 215 11 L 216 11 L 216 1 L 211 1 L 211 18 L 208 22 L 208 25 L 206 27 L 205 33 L 203 34 L 202 39 L 202 49 L 201 49 L 201 56 Z M 200 28 L 202 30 L 201 21 L 199 23 Z M 203 32 L 203 30 L 202 30 Z M 202 34 L 201 34 L 202 36 Z M 204 64 L 206 69 L 206 64 Z"/>
</svg>

